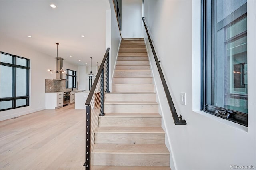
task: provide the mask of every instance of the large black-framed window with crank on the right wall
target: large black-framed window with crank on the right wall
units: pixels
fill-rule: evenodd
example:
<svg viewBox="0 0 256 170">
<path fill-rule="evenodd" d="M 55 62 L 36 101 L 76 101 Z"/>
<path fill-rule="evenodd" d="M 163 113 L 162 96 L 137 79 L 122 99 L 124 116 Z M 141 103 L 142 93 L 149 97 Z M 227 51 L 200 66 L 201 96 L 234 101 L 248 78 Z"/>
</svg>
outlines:
<svg viewBox="0 0 256 170">
<path fill-rule="evenodd" d="M 202 0 L 201 109 L 247 126 L 247 1 Z"/>
</svg>

